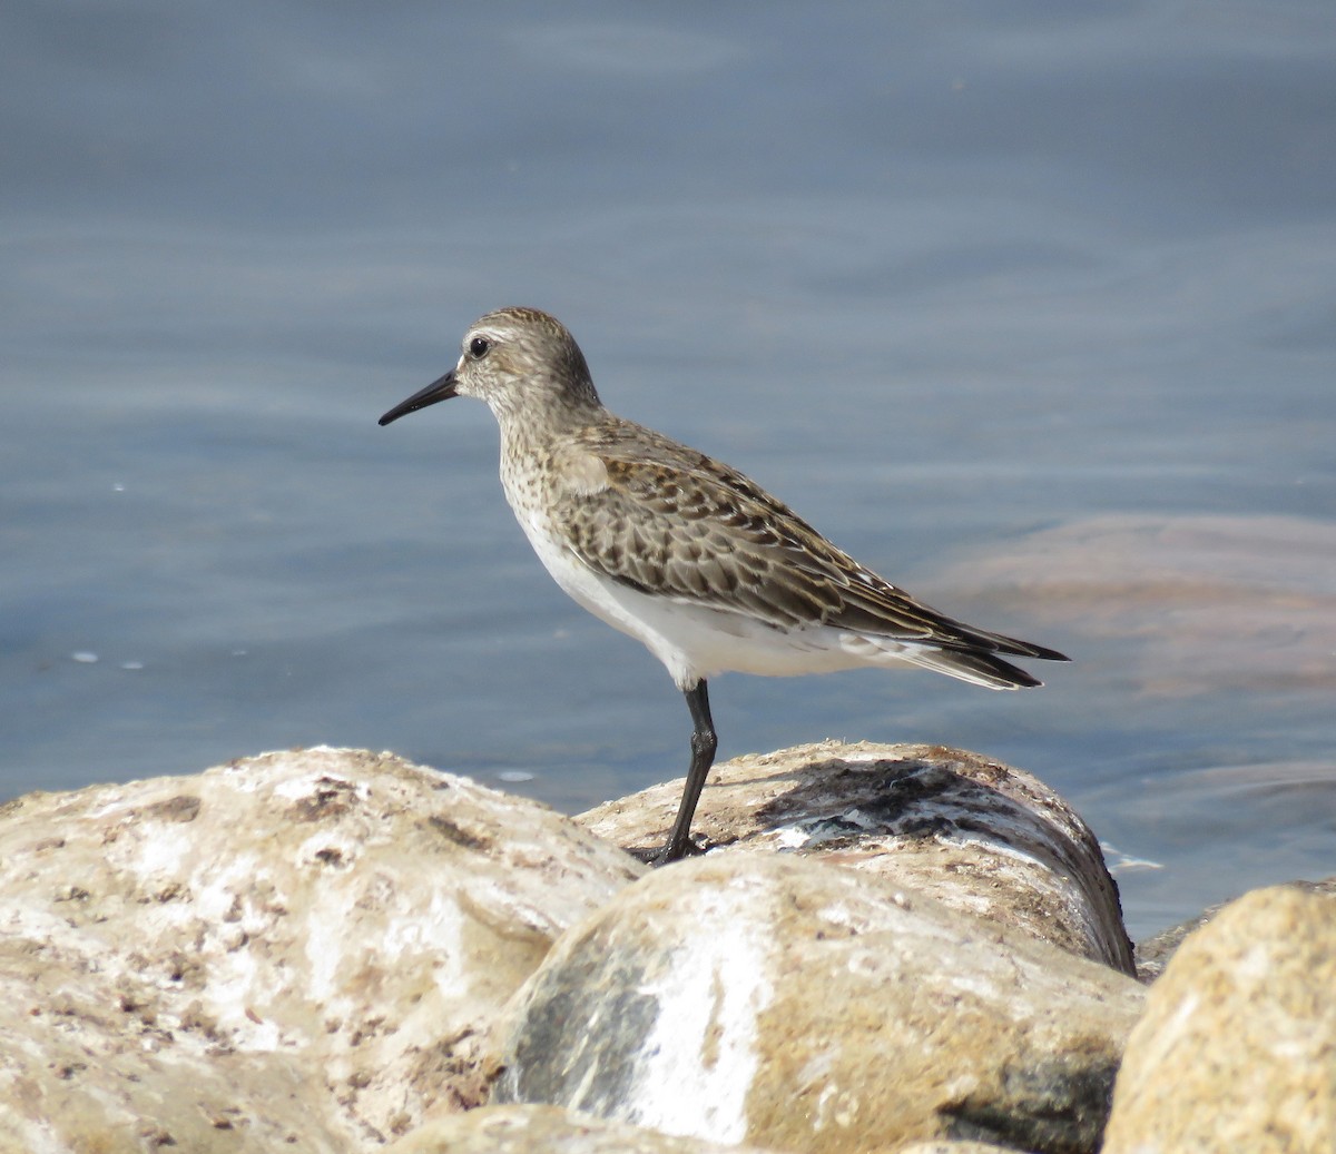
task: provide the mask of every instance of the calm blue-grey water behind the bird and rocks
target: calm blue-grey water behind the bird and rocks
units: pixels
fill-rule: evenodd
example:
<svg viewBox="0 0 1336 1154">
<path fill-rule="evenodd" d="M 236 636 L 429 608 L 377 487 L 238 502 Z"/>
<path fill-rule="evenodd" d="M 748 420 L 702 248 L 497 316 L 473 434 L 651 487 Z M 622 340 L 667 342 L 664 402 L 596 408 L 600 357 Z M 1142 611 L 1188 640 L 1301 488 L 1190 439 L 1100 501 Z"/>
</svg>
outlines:
<svg viewBox="0 0 1336 1154">
<path fill-rule="evenodd" d="M 294 744 L 577 811 L 679 775 L 490 415 L 504 303 L 1038 693 L 720 679 L 720 753 L 1025 767 L 1134 935 L 1336 872 L 1336 11 L 17 3 L 0 36 L 0 795 Z M 1118 859 L 1122 860 L 1122 859 Z"/>
</svg>

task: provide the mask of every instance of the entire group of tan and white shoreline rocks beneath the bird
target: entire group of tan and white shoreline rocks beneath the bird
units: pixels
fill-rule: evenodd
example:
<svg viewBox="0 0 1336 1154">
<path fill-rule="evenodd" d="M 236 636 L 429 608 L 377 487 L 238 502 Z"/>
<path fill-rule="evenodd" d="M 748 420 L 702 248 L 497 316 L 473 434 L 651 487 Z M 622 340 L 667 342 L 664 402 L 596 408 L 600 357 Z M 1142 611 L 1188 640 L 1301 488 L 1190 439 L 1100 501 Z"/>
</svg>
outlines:
<svg viewBox="0 0 1336 1154">
<path fill-rule="evenodd" d="M 1022 771 L 736 759 L 651 871 L 679 788 L 568 819 L 315 748 L 0 807 L 0 1154 L 1336 1149 L 1331 883 L 1137 980 Z"/>
</svg>

